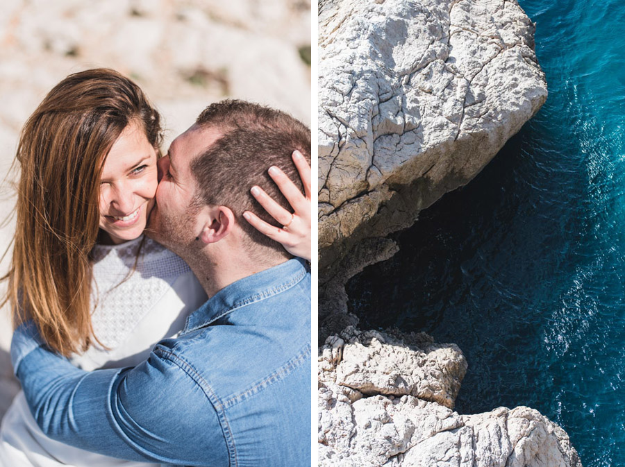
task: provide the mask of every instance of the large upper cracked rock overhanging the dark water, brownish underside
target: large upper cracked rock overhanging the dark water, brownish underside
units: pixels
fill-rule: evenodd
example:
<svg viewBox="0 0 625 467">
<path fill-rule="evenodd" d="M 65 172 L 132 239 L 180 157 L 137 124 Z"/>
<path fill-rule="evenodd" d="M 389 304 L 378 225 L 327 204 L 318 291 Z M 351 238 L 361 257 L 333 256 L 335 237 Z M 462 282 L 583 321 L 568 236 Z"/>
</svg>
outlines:
<svg viewBox="0 0 625 467">
<path fill-rule="evenodd" d="M 410 226 L 547 99 L 514 0 L 321 0 L 319 271 Z"/>
</svg>

